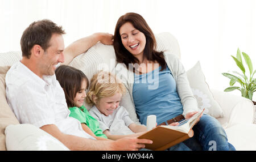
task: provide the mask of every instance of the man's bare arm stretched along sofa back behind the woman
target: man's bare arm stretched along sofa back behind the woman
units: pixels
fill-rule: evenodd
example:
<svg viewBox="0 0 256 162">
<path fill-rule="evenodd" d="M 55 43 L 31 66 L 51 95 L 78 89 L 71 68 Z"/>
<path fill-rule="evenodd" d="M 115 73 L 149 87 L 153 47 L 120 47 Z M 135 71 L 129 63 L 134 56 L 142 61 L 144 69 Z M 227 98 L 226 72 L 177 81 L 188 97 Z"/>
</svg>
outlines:
<svg viewBox="0 0 256 162">
<path fill-rule="evenodd" d="M 113 35 L 109 33 L 94 33 L 93 35 L 79 39 L 64 49 L 64 62 L 61 64 L 68 65 L 73 58 L 79 54 L 85 53 L 93 45 L 96 45 L 98 41 L 105 45 L 112 45 L 112 39 Z"/>
</svg>

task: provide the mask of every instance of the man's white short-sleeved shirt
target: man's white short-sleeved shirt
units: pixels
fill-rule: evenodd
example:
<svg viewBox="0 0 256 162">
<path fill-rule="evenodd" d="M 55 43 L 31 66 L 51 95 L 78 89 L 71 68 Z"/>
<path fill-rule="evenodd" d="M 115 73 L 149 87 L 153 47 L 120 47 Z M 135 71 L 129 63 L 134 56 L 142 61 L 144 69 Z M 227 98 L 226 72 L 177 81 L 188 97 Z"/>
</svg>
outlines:
<svg viewBox="0 0 256 162">
<path fill-rule="evenodd" d="M 18 61 L 5 80 L 7 102 L 20 123 L 37 127 L 54 124 L 62 133 L 95 139 L 78 120 L 69 117 L 65 94 L 55 75 L 42 79 Z"/>
</svg>

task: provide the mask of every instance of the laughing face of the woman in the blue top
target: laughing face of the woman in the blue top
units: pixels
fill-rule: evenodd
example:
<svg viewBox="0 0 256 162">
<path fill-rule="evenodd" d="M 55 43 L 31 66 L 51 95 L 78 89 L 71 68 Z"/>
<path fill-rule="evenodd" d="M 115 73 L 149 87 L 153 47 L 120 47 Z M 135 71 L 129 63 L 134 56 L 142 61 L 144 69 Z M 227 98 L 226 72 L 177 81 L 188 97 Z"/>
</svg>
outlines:
<svg viewBox="0 0 256 162">
<path fill-rule="evenodd" d="M 133 27 L 133 24 L 127 22 L 119 29 L 122 44 L 133 54 L 134 57 L 142 57 L 146 45 L 144 33 Z"/>
</svg>

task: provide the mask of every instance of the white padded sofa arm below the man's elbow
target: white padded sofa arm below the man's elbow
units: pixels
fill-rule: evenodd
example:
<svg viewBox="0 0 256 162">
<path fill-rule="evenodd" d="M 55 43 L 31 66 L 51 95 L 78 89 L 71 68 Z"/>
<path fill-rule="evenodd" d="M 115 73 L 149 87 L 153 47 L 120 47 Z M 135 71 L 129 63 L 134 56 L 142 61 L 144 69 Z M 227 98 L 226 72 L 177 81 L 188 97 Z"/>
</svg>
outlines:
<svg viewBox="0 0 256 162">
<path fill-rule="evenodd" d="M 31 124 L 9 125 L 5 129 L 6 150 L 8 151 L 68 151 L 52 135 Z"/>
</svg>

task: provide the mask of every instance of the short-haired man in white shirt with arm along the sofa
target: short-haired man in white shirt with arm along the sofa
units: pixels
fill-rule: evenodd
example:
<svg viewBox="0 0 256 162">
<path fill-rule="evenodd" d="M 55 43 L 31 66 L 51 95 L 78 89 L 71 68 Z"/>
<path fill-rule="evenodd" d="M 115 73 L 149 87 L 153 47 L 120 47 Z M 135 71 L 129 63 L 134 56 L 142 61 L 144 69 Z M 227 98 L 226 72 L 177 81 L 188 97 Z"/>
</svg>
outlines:
<svg viewBox="0 0 256 162">
<path fill-rule="evenodd" d="M 57 138 L 70 150 L 139 150 L 151 140 L 95 140 L 69 117 L 65 95 L 56 80 L 59 63 L 68 64 L 98 41 L 112 44 L 112 35 L 95 33 L 64 49 L 65 32 L 50 20 L 30 24 L 20 40 L 22 59 L 6 74 L 6 97 L 20 123 L 31 123 Z"/>
</svg>

